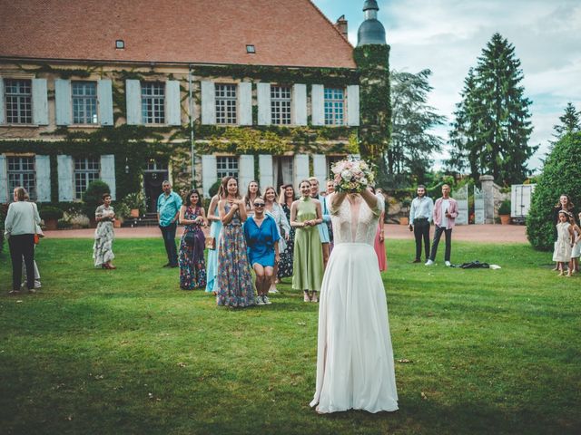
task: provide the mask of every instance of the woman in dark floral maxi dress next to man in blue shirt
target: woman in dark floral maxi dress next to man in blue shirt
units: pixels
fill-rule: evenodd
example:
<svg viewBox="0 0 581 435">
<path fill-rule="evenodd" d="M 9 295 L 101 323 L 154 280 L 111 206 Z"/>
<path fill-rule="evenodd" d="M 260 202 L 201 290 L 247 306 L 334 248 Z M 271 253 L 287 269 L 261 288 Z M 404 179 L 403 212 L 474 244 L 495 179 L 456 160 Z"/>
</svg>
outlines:
<svg viewBox="0 0 581 435">
<path fill-rule="evenodd" d="M 202 232 L 202 227 L 206 225 L 206 213 L 200 207 L 201 202 L 200 194 L 192 190 L 180 208 L 180 223 L 184 225 L 178 259 L 182 290 L 206 285 L 206 264 L 203 259 L 205 237 Z"/>
</svg>

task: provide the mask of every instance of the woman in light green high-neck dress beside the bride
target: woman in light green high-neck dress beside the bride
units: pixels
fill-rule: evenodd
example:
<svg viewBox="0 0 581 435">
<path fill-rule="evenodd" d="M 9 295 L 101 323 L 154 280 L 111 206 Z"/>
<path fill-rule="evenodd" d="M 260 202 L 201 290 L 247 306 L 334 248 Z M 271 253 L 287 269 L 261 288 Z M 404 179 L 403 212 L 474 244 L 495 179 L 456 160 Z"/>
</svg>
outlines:
<svg viewBox="0 0 581 435">
<path fill-rule="evenodd" d="M 291 227 L 296 228 L 292 268 L 292 288 L 304 292 L 305 302 L 317 302 L 323 280 L 323 253 L 319 225 L 322 219 L 320 201 L 310 198 L 309 180 L 300 181 L 300 199 L 291 206 Z"/>
</svg>

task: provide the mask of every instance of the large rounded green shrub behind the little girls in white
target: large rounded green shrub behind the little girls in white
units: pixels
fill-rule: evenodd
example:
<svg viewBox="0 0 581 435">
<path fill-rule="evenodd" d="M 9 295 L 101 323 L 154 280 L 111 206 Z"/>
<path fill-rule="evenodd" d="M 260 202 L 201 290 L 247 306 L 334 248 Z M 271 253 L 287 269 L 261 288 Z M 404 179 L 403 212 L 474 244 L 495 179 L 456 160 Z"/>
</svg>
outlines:
<svg viewBox="0 0 581 435">
<path fill-rule="evenodd" d="M 558 140 L 545 160 L 527 217 L 527 237 L 538 250 L 553 248 L 553 208 L 566 194 L 573 204 L 581 202 L 581 132 Z"/>
</svg>

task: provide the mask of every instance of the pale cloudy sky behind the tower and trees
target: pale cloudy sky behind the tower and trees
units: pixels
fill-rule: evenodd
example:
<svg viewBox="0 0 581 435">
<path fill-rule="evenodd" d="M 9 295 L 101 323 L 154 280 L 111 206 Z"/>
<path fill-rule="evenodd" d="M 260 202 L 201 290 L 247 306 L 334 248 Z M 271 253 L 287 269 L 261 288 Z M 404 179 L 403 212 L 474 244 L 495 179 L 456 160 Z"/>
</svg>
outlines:
<svg viewBox="0 0 581 435">
<path fill-rule="evenodd" d="M 349 21 L 357 44 L 363 0 L 313 0 L 335 22 Z M 379 20 L 391 45 L 390 66 L 399 71 L 432 71 L 430 104 L 453 119 L 459 92 L 471 66 L 496 32 L 515 46 L 540 144 L 529 168 L 538 169 L 553 125 L 566 103 L 581 110 L 581 0 L 378 0 Z M 448 127 L 438 130 L 447 139 Z"/>
</svg>

